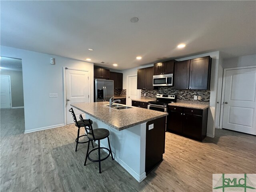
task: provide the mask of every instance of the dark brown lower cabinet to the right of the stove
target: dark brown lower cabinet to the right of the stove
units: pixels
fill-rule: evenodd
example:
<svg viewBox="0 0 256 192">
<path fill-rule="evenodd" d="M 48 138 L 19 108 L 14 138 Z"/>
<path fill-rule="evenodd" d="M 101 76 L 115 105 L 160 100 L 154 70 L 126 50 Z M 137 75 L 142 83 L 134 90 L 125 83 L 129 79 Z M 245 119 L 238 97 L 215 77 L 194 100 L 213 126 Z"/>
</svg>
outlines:
<svg viewBox="0 0 256 192">
<path fill-rule="evenodd" d="M 202 141 L 206 137 L 207 109 L 168 106 L 167 131 Z"/>
</svg>

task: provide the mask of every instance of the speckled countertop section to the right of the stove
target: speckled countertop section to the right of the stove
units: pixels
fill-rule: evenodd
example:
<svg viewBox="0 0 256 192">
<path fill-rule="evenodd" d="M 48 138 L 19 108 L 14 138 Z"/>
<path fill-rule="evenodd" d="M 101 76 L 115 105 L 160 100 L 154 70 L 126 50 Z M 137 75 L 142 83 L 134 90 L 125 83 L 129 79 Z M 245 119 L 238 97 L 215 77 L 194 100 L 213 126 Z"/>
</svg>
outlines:
<svg viewBox="0 0 256 192">
<path fill-rule="evenodd" d="M 209 102 L 177 100 L 176 103 L 170 103 L 168 105 L 194 109 L 207 109 L 209 107 Z"/>
</svg>

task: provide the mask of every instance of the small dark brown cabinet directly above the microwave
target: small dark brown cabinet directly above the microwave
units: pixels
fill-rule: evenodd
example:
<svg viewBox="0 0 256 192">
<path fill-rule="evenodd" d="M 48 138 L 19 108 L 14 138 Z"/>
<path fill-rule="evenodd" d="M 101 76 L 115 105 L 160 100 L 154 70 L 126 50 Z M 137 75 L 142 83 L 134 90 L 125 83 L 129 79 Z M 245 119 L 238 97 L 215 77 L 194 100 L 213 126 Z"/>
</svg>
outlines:
<svg viewBox="0 0 256 192">
<path fill-rule="evenodd" d="M 154 75 L 172 74 L 173 72 L 174 60 L 154 64 Z"/>
</svg>

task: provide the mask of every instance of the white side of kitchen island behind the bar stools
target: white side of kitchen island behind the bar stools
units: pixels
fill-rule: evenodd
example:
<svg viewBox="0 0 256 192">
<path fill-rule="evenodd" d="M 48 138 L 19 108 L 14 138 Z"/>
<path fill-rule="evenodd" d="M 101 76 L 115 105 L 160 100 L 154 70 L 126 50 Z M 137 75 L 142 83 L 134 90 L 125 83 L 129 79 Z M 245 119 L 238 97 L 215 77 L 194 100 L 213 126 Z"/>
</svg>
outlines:
<svg viewBox="0 0 256 192">
<path fill-rule="evenodd" d="M 116 162 L 127 170 L 138 182 L 146 178 L 146 123 L 118 131 L 86 114 L 93 121 L 93 128 L 106 128 L 110 131 L 110 145 Z M 101 147 L 108 148 L 108 140 L 100 141 Z"/>
</svg>

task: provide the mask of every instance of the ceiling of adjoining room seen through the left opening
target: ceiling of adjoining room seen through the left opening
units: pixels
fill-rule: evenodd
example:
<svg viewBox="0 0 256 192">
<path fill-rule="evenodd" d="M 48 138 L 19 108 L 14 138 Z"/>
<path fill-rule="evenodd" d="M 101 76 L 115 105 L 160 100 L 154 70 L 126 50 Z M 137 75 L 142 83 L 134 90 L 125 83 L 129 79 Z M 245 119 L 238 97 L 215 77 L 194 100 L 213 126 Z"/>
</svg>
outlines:
<svg viewBox="0 0 256 192">
<path fill-rule="evenodd" d="M 0 68 L 12 71 L 22 71 L 22 60 L 8 57 L 0 58 Z"/>
</svg>

